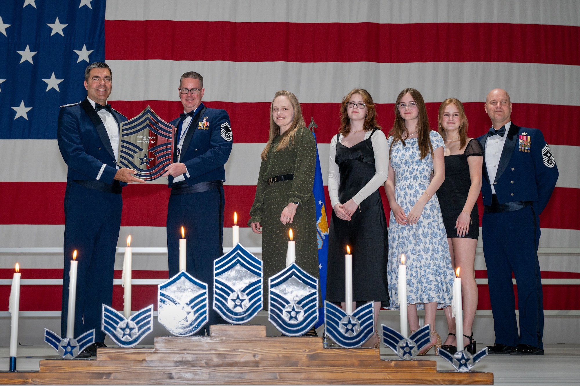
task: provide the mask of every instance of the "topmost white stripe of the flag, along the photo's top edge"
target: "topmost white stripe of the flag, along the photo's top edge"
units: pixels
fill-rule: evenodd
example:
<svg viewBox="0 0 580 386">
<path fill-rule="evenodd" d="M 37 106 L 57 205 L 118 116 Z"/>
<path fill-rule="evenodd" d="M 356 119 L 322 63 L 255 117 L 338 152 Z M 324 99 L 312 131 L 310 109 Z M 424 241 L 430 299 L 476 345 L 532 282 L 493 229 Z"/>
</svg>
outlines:
<svg viewBox="0 0 580 386">
<path fill-rule="evenodd" d="M 576 0 L 107 0 L 105 19 L 580 26 L 580 5 Z"/>
</svg>

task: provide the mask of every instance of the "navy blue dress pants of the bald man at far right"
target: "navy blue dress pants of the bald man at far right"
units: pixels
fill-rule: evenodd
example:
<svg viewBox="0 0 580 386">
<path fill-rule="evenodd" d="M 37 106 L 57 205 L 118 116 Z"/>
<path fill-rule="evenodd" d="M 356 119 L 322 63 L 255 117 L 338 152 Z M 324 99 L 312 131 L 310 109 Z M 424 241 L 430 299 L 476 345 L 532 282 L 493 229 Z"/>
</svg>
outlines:
<svg viewBox="0 0 580 386">
<path fill-rule="evenodd" d="M 539 218 L 534 207 L 484 213 L 481 222 L 495 343 L 543 348 L 542 279 L 538 263 Z M 517 283 L 520 333 L 512 272 Z"/>
</svg>

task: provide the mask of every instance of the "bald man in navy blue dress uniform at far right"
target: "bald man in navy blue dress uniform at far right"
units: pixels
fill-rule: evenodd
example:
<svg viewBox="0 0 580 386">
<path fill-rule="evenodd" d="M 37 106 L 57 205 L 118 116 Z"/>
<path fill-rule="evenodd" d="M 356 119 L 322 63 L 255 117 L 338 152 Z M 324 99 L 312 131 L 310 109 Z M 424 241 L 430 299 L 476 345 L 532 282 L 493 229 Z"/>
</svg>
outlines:
<svg viewBox="0 0 580 386">
<path fill-rule="evenodd" d="M 485 112 L 492 127 L 478 140 L 485 149 L 481 226 L 495 331 L 495 344 L 489 352 L 543 355 L 539 214 L 556 186 L 558 168 L 542 132 L 520 128 L 511 121 L 507 92 L 491 90 Z M 517 282 L 520 333 L 512 272 Z"/>
</svg>

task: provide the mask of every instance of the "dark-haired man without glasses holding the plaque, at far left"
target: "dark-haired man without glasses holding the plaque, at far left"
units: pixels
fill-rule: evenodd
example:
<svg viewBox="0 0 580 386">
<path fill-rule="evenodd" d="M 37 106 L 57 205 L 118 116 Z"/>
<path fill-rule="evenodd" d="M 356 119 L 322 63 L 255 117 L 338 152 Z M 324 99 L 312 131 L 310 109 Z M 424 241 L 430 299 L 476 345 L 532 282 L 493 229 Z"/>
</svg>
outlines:
<svg viewBox="0 0 580 386">
<path fill-rule="evenodd" d="M 78 252 L 74 337 L 95 329 L 95 344 L 78 358 L 104 347 L 102 304 L 113 300 L 115 249 L 121 227 L 122 185 L 143 183 L 135 170 L 117 166 L 119 125 L 127 120 L 107 104 L 111 69 L 92 63 L 85 70 L 87 96 L 60 109 L 57 139 L 68 166 L 64 194 L 64 271 L 60 334 L 66 336 L 68 283 L 73 251 Z"/>
</svg>

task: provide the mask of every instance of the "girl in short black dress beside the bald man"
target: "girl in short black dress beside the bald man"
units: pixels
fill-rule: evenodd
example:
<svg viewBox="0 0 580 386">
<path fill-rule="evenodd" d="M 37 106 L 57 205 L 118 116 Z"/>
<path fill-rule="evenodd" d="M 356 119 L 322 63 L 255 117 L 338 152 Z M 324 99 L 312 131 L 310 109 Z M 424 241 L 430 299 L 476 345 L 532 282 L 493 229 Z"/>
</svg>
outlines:
<svg viewBox="0 0 580 386">
<path fill-rule="evenodd" d="M 439 133 L 445 141 L 445 181 L 437 190 L 443 224 L 447 231 L 451 264 L 459 270 L 463 294 L 463 348 L 476 352 L 473 340 L 473 319 L 477 309 L 477 284 L 474 261 L 479 237 L 479 215 L 476 201 L 481 190 L 484 150 L 476 139 L 467 138 L 467 117 L 463 104 L 455 98 L 439 107 Z M 443 349 L 455 352 L 455 318 L 451 307 L 444 308 L 449 335 Z M 467 335 L 470 333 L 470 335 Z"/>
</svg>

